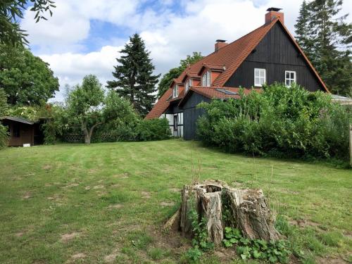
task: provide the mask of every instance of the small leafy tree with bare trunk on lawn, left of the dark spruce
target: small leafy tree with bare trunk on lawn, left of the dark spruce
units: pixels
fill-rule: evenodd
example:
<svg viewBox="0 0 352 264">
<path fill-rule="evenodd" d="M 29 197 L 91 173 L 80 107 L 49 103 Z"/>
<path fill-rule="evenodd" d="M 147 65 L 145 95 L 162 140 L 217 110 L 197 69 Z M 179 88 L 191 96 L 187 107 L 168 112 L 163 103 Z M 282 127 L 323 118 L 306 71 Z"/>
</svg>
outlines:
<svg viewBox="0 0 352 264">
<path fill-rule="evenodd" d="M 90 144 L 97 126 L 125 120 L 132 115 L 135 113 L 131 103 L 114 91 L 104 96 L 101 83 L 94 75 L 84 77 L 82 85 L 77 85 L 68 97 L 70 122 L 80 125 L 85 144 Z"/>
</svg>

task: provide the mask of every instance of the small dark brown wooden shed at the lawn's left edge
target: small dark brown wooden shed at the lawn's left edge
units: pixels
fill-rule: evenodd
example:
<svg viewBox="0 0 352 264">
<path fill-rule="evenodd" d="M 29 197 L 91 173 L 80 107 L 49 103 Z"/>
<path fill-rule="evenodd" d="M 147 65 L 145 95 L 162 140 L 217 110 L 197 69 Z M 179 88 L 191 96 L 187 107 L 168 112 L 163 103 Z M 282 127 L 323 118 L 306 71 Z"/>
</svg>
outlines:
<svg viewBox="0 0 352 264">
<path fill-rule="evenodd" d="M 41 122 L 32 122 L 24 118 L 6 116 L 1 118 L 1 123 L 8 127 L 10 137 L 8 146 L 30 146 L 43 144 L 43 133 L 40 129 Z"/>
</svg>

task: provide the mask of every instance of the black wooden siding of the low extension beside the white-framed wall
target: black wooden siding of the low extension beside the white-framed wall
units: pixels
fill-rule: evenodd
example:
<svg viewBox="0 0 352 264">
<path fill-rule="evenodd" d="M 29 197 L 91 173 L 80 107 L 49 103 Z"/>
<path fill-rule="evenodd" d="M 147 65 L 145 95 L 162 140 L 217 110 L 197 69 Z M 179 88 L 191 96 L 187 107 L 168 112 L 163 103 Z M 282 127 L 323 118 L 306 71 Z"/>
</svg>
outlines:
<svg viewBox="0 0 352 264">
<path fill-rule="evenodd" d="M 186 140 L 196 139 L 196 121 L 205 113 L 204 109 L 196 108 L 201 102 L 210 102 L 205 96 L 192 93 L 183 106 L 183 138 Z"/>
</svg>

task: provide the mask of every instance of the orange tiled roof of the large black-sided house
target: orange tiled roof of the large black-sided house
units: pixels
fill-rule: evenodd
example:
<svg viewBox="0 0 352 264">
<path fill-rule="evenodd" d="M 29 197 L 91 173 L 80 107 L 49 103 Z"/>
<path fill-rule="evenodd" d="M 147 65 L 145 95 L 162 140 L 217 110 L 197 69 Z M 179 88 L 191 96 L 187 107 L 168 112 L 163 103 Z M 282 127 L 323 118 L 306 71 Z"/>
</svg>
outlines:
<svg viewBox="0 0 352 264">
<path fill-rule="evenodd" d="M 215 88 L 220 88 L 220 87 L 225 88 L 224 85 L 227 82 L 227 80 L 232 76 L 232 74 L 237 70 L 237 68 L 239 68 L 239 65 L 243 63 L 246 57 L 249 56 L 251 51 L 253 51 L 253 49 L 256 48 L 259 42 L 263 39 L 263 37 L 265 37 L 265 35 L 269 32 L 272 26 L 275 25 L 275 23 L 280 23 L 284 27 L 284 30 L 292 39 L 295 46 L 298 48 L 299 51 L 301 51 L 301 54 L 303 54 L 303 51 L 298 46 L 298 44 L 291 36 L 289 31 L 287 30 L 287 27 L 285 27 L 281 23 L 279 18 L 275 18 L 270 23 L 266 23 L 261 27 L 258 27 L 256 30 L 249 32 L 248 34 L 244 35 L 243 37 L 240 37 L 236 41 L 230 44 L 227 44 L 226 46 L 223 46 L 221 49 L 218 49 L 218 51 L 214 51 L 208 56 L 202 58 L 200 61 L 194 63 L 193 65 L 190 65 L 176 79 L 177 82 L 184 81 L 184 77 L 186 77 L 187 74 L 188 75 L 194 75 L 195 73 L 200 74 L 200 71 L 203 67 L 216 68 L 218 70 L 222 70 L 222 73 L 220 73 L 220 75 L 213 81 L 213 84 L 212 84 L 213 87 L 202 87 L 202 88 L 192 87 L 191 89 L 194 92 L 197 92 L 199 94 L 203 93 L 202 95 L 204 96 L 213 96 L 213 95 L 214 97 L 224 96 L 223 94 L 218 94 L 218 92 L 215 92 L 214 91 Z M 306 59 L 308 65 L 310 65 L 310 68 L 312 68 L 313 73 L 315 73 L 315 75 L 318 77 L 318 80 L 320 80 L 320 83 L 322 84 L 322 86 L 326 89 L 327 92 L 329 92 L 324 82 L 322 82 L 320 76 L 313 68 L 313 65 L 310 63 L 310 61 L 308 60 L 305 54 L 303 54 L 303 57 Z M 198 75 L 198 77 L 200 76 Z M 202 91 L 200 91 L 201 89 Z M 238 88 L 226 87 L 226 89 L 238 89 Z M 165 96 L 165 94 L 167 95 Z M 168 100 L 170 95 L 172 95 L 172 88 L 170 87 L 168 91 L 165 92 L 165 94 L 161 96 L 161 98 L 158 100 L 158 102 L 153 107 L 151 112 L 149 112 L 149 114 L 146 115 L 146 118 L 158 118 L 162 113 L 165 112 L 165 110 L 168 108 L 170 104 Z M 181 93 L 180 93 L 180 96 L 181 96 Z M 225 95 L 225 96 L 228 96 L 228 95 Z M 209 97 L 209 98 L 213 98 L 213 97 Z M 227 98 L 227 97 L 218 97 L 218 98 Z"/>
</svg>

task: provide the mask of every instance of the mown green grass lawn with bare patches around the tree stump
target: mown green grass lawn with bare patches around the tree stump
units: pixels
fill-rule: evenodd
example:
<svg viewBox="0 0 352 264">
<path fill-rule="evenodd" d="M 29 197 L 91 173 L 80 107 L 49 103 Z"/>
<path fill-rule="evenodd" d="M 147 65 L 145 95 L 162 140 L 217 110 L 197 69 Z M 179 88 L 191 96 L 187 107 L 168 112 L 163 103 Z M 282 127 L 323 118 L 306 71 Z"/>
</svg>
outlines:
<svg viewBox="0 0 352 264">
<path fill-rule="evenodd" d="M 187 263 L 189 241 L 161 226 L 192 162 L 201 180 L 263 189 L 302 263 L 351 260 L 351 170 L 168 140 L 0 151 L 0 263 Z"/>
</svg>

